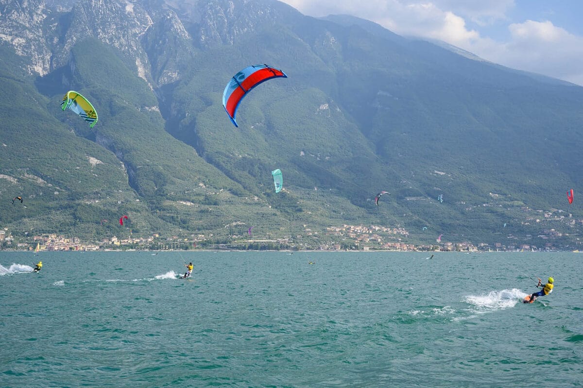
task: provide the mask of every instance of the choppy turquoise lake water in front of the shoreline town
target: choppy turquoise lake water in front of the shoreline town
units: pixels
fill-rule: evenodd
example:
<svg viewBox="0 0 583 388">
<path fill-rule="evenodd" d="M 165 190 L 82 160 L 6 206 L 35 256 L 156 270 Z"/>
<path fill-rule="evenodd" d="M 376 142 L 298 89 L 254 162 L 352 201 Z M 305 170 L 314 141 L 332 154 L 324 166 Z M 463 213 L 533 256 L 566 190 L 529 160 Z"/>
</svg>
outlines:
<svg viewBox="0 0 583 388">
<path fill-rule="evenodd" d="M 583 253 L 428 256 L 0 252 L 0 387 L 583 386 Z"/>
</svg>

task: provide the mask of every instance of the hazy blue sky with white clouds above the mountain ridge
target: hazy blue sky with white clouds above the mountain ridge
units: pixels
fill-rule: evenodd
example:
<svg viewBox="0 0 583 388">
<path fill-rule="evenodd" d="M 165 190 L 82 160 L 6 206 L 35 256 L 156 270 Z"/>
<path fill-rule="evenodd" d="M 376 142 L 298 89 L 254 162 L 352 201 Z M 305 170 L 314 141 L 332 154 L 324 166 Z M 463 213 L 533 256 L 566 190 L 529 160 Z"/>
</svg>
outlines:
<svg viewBox="0 0 583 388">
<path fill-rule="evenodd" d="M 488 61 L 583 85 L 582 0 L 281 0 L 304 15 L 346 14 L 434 38 Z"/>
</svg>

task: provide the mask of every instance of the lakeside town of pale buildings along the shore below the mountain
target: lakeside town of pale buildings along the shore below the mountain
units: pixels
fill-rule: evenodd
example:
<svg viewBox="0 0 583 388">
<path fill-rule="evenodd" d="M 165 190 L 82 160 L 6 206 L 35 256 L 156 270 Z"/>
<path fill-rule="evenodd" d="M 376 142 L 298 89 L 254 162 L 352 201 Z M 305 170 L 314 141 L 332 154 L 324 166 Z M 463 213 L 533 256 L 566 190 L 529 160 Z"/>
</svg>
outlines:
<svg viewBox="0 0 583 388">
<path fill-rule="evenodd" d="M 478 252 L 478 251 L 560 251 L 566 250 L 548 242 L 550 238 L 560 238 L 561 233 L 554 229 L 544 230 L 539 239 L 545 240 L 542 246 L 533 244 L 514 244 L 495 242 L 494 244 L 469 241 L 435 241 L 431 244 L 408 242 L 409 231 L 402 227 L 382 227 L 378 225 L 348 225 L 327 227 L 315 231 L 304 225 L 303 234 L 296 238 L 245 238 L 230 235 L 217 239 L 213 234 L 192 234 L 188 238 L 170 236 L 118 238 L 115 235 L 99 241 L 82 241 L 79 237 L 62 234 L 38 234 L 26 239 L 15 238 L 8 228 L 0 230 L 0 249 L 11 251 L 188 251 L 192 249 L 250 250 L 250 251 L 403 251 L 403 252 Z M 512 241 L 512 235 L 507 239 Z M 570 249 L 571 250 L 571 249 Z"/>
</svg>

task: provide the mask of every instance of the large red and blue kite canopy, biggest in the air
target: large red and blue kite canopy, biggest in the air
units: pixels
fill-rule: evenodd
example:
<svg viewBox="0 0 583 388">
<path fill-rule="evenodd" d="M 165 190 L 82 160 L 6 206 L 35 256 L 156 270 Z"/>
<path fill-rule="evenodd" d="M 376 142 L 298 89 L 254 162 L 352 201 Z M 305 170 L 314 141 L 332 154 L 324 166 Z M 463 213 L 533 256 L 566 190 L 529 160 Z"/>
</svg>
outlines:
<svg viewBox="0 0 583 388">
<path fill-rule="evenodd" d="M 287 78 L 287 75 L 282 70 L 268 65 L 253 65 L 244 68 L 231 78 L 223 91 L 223 107 L 235 126 L 238 126 L 235 115 L 243 97 L 258 84 L 276 77 Z"/>
</svg>

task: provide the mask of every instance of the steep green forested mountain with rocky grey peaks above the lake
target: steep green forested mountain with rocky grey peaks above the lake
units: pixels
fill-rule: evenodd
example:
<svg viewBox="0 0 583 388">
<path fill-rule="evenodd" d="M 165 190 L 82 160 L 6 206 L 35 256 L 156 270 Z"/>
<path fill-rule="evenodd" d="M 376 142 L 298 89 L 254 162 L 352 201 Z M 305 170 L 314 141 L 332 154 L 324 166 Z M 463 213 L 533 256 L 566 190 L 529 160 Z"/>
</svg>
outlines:
<svg viewBox="0 0 583 388">
<path fill-rule="evenodd" d="M 289 77 L 252 91 L 235 128 L 224 85 L 255 63 Z M 93 129 L 61 111 L 67 90 L 92 101 Z M 0 91 L 0 225 L 23 239 L 246 244 L 254 225 L 315 247 L 351 245 L 326 228 L 363 224 L 406 231 L 377 245 L 579 244 L 583 88 L 355 17 L 272 0 L 0 0 Z"/>
</svg>

